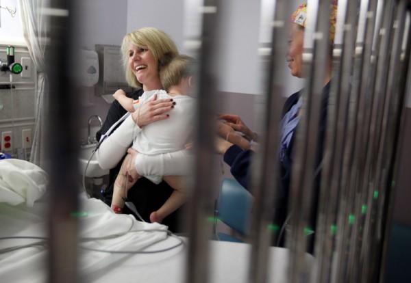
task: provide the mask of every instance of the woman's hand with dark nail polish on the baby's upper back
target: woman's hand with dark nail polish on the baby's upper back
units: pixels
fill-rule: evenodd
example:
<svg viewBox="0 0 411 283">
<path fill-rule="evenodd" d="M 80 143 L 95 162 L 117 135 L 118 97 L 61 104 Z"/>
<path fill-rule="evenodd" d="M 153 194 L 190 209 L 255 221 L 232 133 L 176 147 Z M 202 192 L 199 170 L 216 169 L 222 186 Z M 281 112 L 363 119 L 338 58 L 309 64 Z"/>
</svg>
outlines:
<svg viewBox="0 0 411 283">
<path fill-rule="evenodd" d="M 175 102 L 173 99 L 157 99 L 157 94 L 154 95 L 153 100 L 141 105 L 140 109 L 132 113 L 134 122 L 140 128 L 152 122 L 164 120 L 169 118 L 169 112 L 174 108 Z"/>
</svg>

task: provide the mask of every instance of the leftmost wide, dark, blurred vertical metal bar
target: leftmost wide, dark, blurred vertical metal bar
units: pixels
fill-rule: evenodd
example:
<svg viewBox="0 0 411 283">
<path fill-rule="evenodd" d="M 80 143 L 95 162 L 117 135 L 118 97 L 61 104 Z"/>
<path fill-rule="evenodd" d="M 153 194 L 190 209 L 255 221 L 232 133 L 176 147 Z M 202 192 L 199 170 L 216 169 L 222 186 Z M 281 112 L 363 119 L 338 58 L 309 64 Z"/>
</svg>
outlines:
<svg viewBox="0 0 411 283">
<path fill-rule="evenodd" d="M 49 184 L 49 282 L 79 282 L 77 273 L 77 219 L 79 183 L 77 182 L 77 131 L 75 119 L 78 109 L 73 80 L 69 68 L 75 68 L 71 57 L 73 10 L 71 1 L 51 0 L 50 8 L 42 10 L 49 15 L 50 44 L 46 61 L 49 62 L 49 115 L 48 139 Z"/>
</svg>

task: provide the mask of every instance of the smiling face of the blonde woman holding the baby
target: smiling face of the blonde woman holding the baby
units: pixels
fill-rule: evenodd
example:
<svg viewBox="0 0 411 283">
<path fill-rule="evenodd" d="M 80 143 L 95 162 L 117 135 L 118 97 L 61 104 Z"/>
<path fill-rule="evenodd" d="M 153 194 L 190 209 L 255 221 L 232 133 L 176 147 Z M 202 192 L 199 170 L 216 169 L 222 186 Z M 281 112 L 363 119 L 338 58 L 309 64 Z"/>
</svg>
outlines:
<svg viewBox="0 0 411 283">
<path fill-rule="evenodd" d="M 149 49 L 130 44 L 129 68 L 145 90 L 151 90 L 153 88 L 151 85 L 155 85 L 153 89 L 158 88 L 157 85 L 160 81 L 158 66 L 153 53 Z"/>
</svg>

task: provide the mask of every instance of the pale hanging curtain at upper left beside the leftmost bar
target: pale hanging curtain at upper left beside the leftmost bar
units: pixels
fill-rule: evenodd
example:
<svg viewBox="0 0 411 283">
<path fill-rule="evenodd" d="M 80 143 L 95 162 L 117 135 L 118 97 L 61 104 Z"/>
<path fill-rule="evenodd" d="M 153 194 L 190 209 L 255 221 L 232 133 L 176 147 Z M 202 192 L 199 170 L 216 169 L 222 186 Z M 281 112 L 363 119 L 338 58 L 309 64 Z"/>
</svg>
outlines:
<svg viewBox="0 0 411 283">
<path fill-rule="evenodd" d="M 21 14 L 21 24 L 23 34 L 30 56 L 37 69 L 37 92 L 36 92 L 36 111 L 35 111 L 35 130 L 33 137 L 32 151 L 29 161 L 45 167 L 45 126 L 47 109 L 46 97 L 48 91 L 45 51 L 47 46 L 47 29 L 49 17 L 42 11 L 47 8 L 47 0 L 19 0 L 18 6 Z"/>
</svg>

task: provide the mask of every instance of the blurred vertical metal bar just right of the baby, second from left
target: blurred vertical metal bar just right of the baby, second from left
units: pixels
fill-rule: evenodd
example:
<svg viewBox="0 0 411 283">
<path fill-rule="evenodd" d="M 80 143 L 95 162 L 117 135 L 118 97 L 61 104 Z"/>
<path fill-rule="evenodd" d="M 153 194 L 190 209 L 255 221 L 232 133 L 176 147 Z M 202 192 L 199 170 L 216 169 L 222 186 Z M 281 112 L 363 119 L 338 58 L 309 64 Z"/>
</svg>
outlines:
<svg viewBox="0 0 411 283">
<path fill-rule="evenodd" d="M 213 210 L 212 190 L 212 157 L 214 156 L 214 100 L 216 94 L 216 77 L 214 72 L 214 47 L 216 46 L 218 1 L 205 0 L 199 6 L 202 14 L 200 49 L 197 56 L 199 62 L 197 87 L 197 133 L 195 144 L 195 168 L 192 194 L 189 201 L 188 217 L 188 261 L 186 282 L 208 282 L 208 242 L 212 224 L 208 215 Z M 195 184 L 195 185 L 194 185 Z"/>
</svg>

